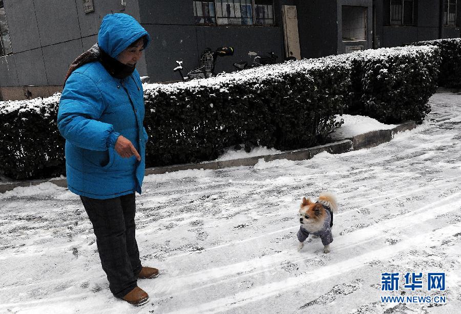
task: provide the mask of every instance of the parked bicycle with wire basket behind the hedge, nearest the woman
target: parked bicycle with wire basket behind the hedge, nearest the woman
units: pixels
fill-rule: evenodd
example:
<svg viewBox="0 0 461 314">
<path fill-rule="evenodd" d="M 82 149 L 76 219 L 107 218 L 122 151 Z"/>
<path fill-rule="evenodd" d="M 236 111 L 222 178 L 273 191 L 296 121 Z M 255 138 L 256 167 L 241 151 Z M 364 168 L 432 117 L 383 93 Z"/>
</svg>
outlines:
<svg viewBox="0 0 461 314">
<path fill-rule="evenodd" d="M 200 55 L 200 66 L 198 68 L 195 68 L 189 72 L 187 72 L 187 75 L 184 76 L 182 74 L 183 66 L 182 66 L 182 60 L 181 61 L 176 61 L 178 63 L 178 66 L 176 66 L 175 69 L 173 69 L 174 72 L 178 72 L 179 75 L 181 75 L 181 79 L 183 81 L 190 81 L 193 79 L 198 79 L 198 78 L 208 78 L 208 77 L 213 77 L 216 76 L 215 74 L 215 63 L 217 57 L 225 57 L 225 56 L 232 56 L 234 54 L 234 48 L 232 47 L 219 47 L 215 51 L 212 51 L 210 48 L 205 48 L 203 50 L 202 54 Z"/>
</svg>

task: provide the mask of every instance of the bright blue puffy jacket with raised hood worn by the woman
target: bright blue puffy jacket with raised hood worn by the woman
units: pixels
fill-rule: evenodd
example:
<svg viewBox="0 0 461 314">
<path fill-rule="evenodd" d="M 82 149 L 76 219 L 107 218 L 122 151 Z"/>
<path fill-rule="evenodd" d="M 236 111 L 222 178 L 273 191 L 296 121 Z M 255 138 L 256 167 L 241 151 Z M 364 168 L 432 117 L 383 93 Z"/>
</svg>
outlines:
<svg viewBox="0 0 461 314">
<path fill-rule="evenodd" d="M 102 19 L 99 47 L 116 58 L 148 32 L 127 14 Z M 59 101 L 58 128 L 66 139 L 69 190 L 91 198 L 113 198 L 141 193 L 148 136 L 142 125 L 144 99 L 139 73 L 112 77 L 99 61 L 76 69 Z M 115 150 L 119 135 L 129 139 L 141 156 L 122 158 Z"/>
</svg>

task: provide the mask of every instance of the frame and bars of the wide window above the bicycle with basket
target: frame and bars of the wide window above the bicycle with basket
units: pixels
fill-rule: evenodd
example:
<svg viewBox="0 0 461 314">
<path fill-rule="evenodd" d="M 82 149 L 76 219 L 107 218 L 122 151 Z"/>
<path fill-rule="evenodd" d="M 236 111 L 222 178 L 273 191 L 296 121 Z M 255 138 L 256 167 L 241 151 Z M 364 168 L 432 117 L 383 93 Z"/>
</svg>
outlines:
<svg viewBox="0 0 461 314">
<path fill-rule="evenodd" d="M 193 5 L 193 9 L 194 9 L 194 19 L 195 19 L 195 25 L 203 25 L 203 26 L 276 26 L 276 21 L 275 21 L 275 10 L 274 10 L 274 7 L 275 7 L 275 4 L 274 4 L 274 0 L 269 0 L 272 4 L 272 17 L 269 18 L 269 17 L 264 17 L 262 18 L 263 20 L 272 20 L 272 23 L 256 23 L 257 20 L 260 20 L 259 18 L 256 17 L 256 13 L 257 13 L 257 6 L 261 6 L 259 4 L 257 4 L 258 0 L 247 0 L 248 2 L 250 2 L 250 5 L 252 6 L 252 11 L 251 11 L 251 16 L 250 17 L 240 17 L 241 19 L 250 19 L 251 20 L 251 23 L 249 24 L 242 24 L 242 23 L 219 23 L 219 19 L 226 19 L 226 18 L 239 18 L 237 16 L 235 17 L 227 17 L 227 16 L 218 16 L 218 1 L 219 0 L 193 0 L 192 2 L 192 5 Z M 224 0 L 223 0 L 224 1 Z M 239 0 L 227 0 L 227 1 L 232 1 L 233 3 L 233 6 L 234 6 L 234 15 L 235 15 L 235 7 L 236 7 L 236 3 L 235 1 L 239 1 Z M 199 16 L 197 15 L 197 4 L 199 3 L 213 3 L 213 9 L 214 11 L 212 12 L 211 9 L 209 10 L 209 12 L 211 13 L 209 16 Z M 213 15 L 212 15 L 213 14 Z M 197 19 L 203 19 L 203 20 L 211 20 L 212 22 L 208 22 L 208 23 L 200 23 L 200 21 L 197 21 Z"/>
</svg>

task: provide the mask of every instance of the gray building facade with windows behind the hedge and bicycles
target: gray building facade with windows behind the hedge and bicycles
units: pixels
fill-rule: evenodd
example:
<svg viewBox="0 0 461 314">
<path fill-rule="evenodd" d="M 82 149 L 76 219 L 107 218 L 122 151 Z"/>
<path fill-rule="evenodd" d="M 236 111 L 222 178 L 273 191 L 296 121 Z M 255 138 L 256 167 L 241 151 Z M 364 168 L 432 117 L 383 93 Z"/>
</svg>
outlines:
<svg viewBox="0 0 461 314">
<path fill-rule="evenodd" d="M 459 37 L 458 0 L 3 0 L 0 97 L 47 97 L 62 89 L 70 63 L 97 42 L 109 13 L 135 17 L 152 46 L 137 68 L 150 82 L 180 79 L 205 48 L 231 46 L 215 72 L 256 54 L 316 58 Z"/>
</svg>

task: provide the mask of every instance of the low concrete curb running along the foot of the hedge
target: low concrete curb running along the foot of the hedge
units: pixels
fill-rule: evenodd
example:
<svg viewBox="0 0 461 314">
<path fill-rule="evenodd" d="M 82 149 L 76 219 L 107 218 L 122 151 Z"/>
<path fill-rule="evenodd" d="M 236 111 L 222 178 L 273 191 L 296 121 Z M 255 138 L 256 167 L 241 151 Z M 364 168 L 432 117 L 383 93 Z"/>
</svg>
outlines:
<svg viewBox="0 0 461 314">
<path fill-rule="evenodd" d="M 277 159 L 287 159 L 291 161 L 298 160 L 307 160 L 311 159 L 318 153 L 327 151 L 330 154 L 340 154 L 348 152 L 351 150 L 358 150 L 363 148 L 375 147 L 380 144 L 389 142 L 392 140 L 394 135 L 398 132 L 403 132 L 406 130 L 411 130 L 416 127 L 414 121 L 407 121 L 402 124 L 397 125 L 392 129 L 387 130 L 376 130 L 367 133 L 363 133 L 352 138 L 344 139 L 339 142 L 329 143 L 325 145 L 288 150 L 278 154 L 273 155 L 262 155 L 234 160 L 226 161 L 212 161 L 212 162 L 203 162 L 199 164 L 182 164 L 182 165 L 173 165 L 165 167 L 153 167 L 145 169 L 145 175 L 149 174 L 162 174 L 166 172 L 173 172 L 179 170 L 188 170 L 188 169 L 222 169 L 228 167 L 240 167 L 240 166 L 254 166 L 258 163 L 260 159 L 269 162 Z M 17 182 L 7 182 L 0 183 L 0 193 L 5 193 L 6 191 L 13 190 L 16 187 L 28 187 L 33 185 L 39 185 L 41 183 L 50 182 L 57 186 L 67 188 L 66 178 L 55 178 L 55 179 L 43 179 L 43 180 L 29 180 L 29 181 L 17 181 Z"/>
</svg>

